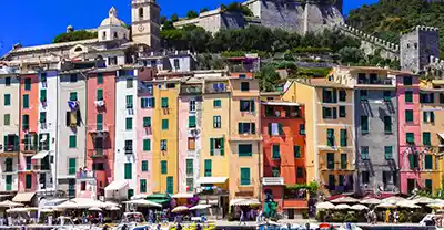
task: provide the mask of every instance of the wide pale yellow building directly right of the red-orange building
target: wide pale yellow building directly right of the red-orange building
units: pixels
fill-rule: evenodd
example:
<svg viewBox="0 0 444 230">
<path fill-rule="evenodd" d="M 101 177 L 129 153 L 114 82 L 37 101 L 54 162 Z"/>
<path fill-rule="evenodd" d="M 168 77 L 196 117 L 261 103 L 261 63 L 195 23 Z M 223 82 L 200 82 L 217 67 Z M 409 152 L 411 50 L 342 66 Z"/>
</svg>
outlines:
<svg viewBox="0 0 444 230">
<path fill-rule="evenodd" d="M 294 81 L 282 100 L 305 105 L 306 182 L 332 188 L 353 180 L 353 88 L 325 80 Z"/>
</svg>

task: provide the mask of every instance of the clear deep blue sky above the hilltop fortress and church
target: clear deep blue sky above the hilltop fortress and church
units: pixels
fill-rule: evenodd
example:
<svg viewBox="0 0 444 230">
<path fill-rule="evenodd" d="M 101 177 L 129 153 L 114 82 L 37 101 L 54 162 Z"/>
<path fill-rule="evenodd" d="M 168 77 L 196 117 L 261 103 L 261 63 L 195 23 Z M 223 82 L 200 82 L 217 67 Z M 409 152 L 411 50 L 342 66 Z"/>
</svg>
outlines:
<svg viewBox="0 0 444 230">
<path fill-rule="evenodd" d="M 158 0 L 162 15 L 183 17 L 189 10 L 214 9 L 230 2 L 233 0 Z M 377 0 L 344 0 L 344 13 L 375 2 Z M 97 28 L 111 7 L 115 7 L 120 19 L 130 23 L 130 0 L 0 0 L 0 55 L 16 43 L 24 46 L 50 43 L 69 24 L 74 29 Z"/>
</svg>

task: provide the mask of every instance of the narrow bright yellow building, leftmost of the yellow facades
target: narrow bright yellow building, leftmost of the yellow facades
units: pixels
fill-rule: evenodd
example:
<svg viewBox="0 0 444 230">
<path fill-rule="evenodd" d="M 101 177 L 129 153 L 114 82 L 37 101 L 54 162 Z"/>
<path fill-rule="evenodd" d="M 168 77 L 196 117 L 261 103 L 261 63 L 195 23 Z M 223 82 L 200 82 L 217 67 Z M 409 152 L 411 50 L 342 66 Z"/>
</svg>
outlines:
<svg viewBox="0 0 444 230">
<path fill-rule="evenodd" d="M 153 81 L 155 107 L 152 118 L 152 190 L 178 192 L 179 80 Z"/>
</svg>

